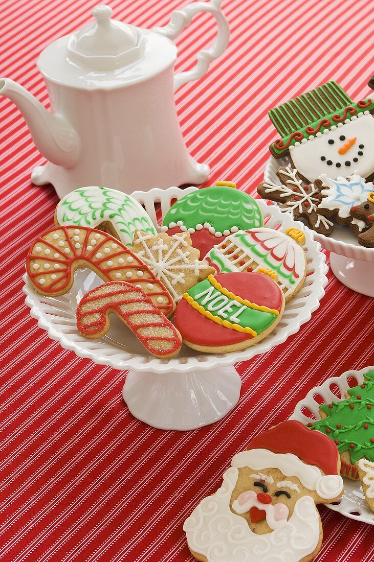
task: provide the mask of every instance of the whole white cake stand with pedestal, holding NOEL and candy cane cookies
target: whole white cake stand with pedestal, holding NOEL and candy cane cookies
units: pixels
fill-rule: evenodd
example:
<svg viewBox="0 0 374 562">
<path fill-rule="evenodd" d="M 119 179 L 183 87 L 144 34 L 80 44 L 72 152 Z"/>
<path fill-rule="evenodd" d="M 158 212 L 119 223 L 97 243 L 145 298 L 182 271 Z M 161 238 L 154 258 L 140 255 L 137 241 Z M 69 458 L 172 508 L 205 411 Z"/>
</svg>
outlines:
<svg viewBox="0 0 374 562">
<path fill-rule="evenodd" d="M 170 203 L 195 189 L 152 189 L 147 193 L 135 192 L 133 197 L 145 206 L 157 226 L 156 203 L 161 203 L 161 214 L 164 215 Z M 89 270 L 76 271 L 71 291 L 56 298 L 42 297 L 25 275 L 24 292 L 30 314 L 38 320 L 39 328 L 47 330 L 50 338 L 76 355 L 89 357 L 114 369 L 130 369 L 123 397 L 136 418 L 160 429 L 196 429 L 217 422 L 235 406 L 240 396 L 241 379 L 233 364 L 266 353 L 298 332 L 318 308 L 327 284 L 326 257 L 320 251 L 320 244 L 314 241 L 312 231 L 282 214 L 277 206 L 268 206 L 263 201 L 259 201 L 259 205 L 270 228 L 280 226 L 285 230 L 295 226 L 304 230 L 308 271 L 303 288 L 287 303 L 280 323 L 269 337 L 253 347 L 214 355 L 183 346 L 176 357 L 156 359 L 147 354 L 115 315 L 111 317 L 111 328 L 105 337 L 86 339 L 76 329 L 76 307 L 83 294 L 102 284 L 102 280 Z"/>
</svg>

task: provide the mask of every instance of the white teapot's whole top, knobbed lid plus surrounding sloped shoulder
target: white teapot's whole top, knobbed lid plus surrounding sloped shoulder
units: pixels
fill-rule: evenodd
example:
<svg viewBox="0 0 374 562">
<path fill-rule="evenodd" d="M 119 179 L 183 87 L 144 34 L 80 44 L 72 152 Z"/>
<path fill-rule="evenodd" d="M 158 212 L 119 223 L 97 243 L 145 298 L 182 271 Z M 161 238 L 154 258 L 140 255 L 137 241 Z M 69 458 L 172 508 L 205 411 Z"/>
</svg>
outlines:
<svg viewBox="0 0 374 562">
<path fill-rule="evenodd" d="M 120 88 L 171 66 L 177 47 L 156 32 L 111 19 L 110 6 L 92 10 L 93 22 L 60 37 L 39 55 L 46 80 L 78 89 Z"/>
</svg>

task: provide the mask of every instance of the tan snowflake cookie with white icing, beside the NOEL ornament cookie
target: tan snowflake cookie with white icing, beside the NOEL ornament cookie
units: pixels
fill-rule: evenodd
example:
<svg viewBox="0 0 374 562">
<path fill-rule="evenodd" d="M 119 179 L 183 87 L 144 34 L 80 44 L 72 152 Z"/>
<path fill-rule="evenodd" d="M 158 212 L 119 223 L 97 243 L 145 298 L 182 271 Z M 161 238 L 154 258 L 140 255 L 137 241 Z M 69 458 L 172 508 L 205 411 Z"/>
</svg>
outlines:
<svg viewBox="0 0 374 562">
<path fill-rule="evenodd" d="M 186 273 L 193 271 L 193 274 L 199 276 L 200 271 L 208 269 L 208 265 L 199 260 L 191 260 L 190 244 L 186 238 L 190 235 L 187 232 L 173 234 L 170 239 L 172 244 L 166 244 L 162 238 L 156 239 L 151 247 L 147 245 L 152 237 L 150 234 L 144 234 L 139 231 L 134 238 L 134 244 L 141 244 L 142 250 L 137 251 L 137 255 L 142 261 L 148 265 L 158 279 L 164 283 L 166 289 L 172 295 L 175 301 L 179 301 L 182 294 L 178 292 L 176 285 L 186 282 Z M 184 289 L 183 289 L 184 292 Z"/>
</svg>

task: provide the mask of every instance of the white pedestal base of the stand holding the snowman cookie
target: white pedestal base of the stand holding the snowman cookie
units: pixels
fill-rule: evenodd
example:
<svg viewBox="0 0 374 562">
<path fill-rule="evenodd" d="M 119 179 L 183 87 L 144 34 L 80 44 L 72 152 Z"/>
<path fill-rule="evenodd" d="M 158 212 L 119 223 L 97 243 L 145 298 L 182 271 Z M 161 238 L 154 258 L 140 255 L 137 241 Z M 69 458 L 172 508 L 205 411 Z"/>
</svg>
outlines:
<svg viewBox="0 0 374 562">
<path fill-rule="evenodd" d="M 357 293 L 374 296 L 374 262 L 354 260 L 352 257 L 331 252 L 330 266 L 341 283 Z"/>
</svg>

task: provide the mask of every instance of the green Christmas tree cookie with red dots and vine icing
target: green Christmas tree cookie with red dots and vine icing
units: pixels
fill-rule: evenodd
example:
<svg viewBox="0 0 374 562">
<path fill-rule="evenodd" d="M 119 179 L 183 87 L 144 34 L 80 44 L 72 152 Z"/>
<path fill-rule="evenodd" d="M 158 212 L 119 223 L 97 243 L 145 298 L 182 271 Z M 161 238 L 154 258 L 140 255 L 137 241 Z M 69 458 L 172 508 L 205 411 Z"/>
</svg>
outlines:
<svg viewBox="0 0 374 562">
<path fill-rule="evenodd" d="M 308 427 L 325 433 L 337 446 L 341 474 L 359 478 L 356 463 L 374 462 L 374 370 L 364 374 L 364 382 L 349 388 L 345 400 L 319 406 L 321 420 Z"/>
</svg>

